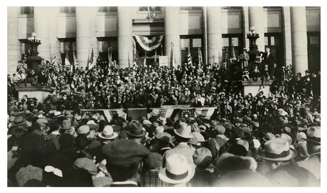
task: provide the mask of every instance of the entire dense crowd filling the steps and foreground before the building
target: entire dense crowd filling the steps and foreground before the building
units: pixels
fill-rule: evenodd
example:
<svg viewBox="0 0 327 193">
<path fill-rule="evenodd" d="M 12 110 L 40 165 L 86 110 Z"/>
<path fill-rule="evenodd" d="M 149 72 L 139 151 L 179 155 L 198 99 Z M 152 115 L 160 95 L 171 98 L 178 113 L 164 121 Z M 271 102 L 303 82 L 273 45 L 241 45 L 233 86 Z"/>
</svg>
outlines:
<svg viewBox="0 0 327 193">
<path fill-rule="evenodd" d="M 176 69 L 42 61 L 38 74 L 19 61 L 7 78 L 8 186 L 319 186 L 320 72 L 293 75 L 271 65 L 269 49 L 255 64 L 244 55 Z M 273 82 L 242 96 L 242 80 Z M 15 87 L 28 84 L 52 91 L 43 103 L 18 98 Z M 217 114 L 106 120 L 80 111 L 177 104 Z"/>
</svg>

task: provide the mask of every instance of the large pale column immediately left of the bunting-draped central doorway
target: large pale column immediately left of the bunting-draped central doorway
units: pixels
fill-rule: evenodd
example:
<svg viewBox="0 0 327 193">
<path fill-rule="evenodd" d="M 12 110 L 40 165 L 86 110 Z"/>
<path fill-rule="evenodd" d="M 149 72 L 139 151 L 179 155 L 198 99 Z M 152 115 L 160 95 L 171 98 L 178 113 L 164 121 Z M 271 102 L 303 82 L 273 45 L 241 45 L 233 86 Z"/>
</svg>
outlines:
<svg viewBox="0 0 327 193">
<path fill-rule="evenodd" d="M 133 65 L 131 11 L 131 7 L 118 7 L 118 64 L 120 68 Z"/>
</svg>

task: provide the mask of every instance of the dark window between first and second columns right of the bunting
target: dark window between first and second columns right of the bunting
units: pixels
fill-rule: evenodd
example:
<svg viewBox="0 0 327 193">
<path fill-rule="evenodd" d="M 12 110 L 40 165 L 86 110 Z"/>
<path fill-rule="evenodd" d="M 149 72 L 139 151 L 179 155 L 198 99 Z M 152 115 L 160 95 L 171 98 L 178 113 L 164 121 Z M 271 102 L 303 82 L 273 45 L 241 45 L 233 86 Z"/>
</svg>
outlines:
<svg viewBox="0 0 327 193">
<path fill-rule="evenodd" d="M 202 37 L 201 36 L 181 36 L 180 37 L 180 59 L 181 64 L 187 63 L 188 61 L 188 54 L 189 54 L 189 46 L 190 52 L 192 56 L 193 64 L 199 63 L 199 54 L 198 49 L 200 48 L 202 54 L 202 61 L 203 62 L 203 46 L 202 46 Z M 201 60 L 201 59 L 200 59 Z"/>
</svg>

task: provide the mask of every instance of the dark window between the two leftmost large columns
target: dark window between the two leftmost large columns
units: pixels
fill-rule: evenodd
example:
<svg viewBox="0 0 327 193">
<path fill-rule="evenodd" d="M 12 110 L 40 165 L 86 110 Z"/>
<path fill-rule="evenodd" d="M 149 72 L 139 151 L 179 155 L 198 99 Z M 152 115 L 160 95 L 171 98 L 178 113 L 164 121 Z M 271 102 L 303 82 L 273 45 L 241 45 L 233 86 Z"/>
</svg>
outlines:
<svg viewBox="0 0 327 193">
<path fill-rule="evenodd" d="M 59 51 L 61 55 L 61 64 L 65 65 L 66 52 L 68 53 L 69 62 L 73 62 L 73 50 L 76 56 L 76 39 L 63 38 L 59 39 Z"/>
</svg>

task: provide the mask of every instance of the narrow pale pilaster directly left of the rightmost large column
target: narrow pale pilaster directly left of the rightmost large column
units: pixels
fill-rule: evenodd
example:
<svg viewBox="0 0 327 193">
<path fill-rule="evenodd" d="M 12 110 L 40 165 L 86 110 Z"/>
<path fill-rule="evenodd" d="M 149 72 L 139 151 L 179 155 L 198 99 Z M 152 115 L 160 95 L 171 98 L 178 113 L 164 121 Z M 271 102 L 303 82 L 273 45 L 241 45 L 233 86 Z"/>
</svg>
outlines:
<svg viewBox="0 0 327 193">
<path fill-rule="evenodd" d="M 292 38 L 290 7 L 283 7 L 284 66 L 292 64 Z"/>
</svg>

